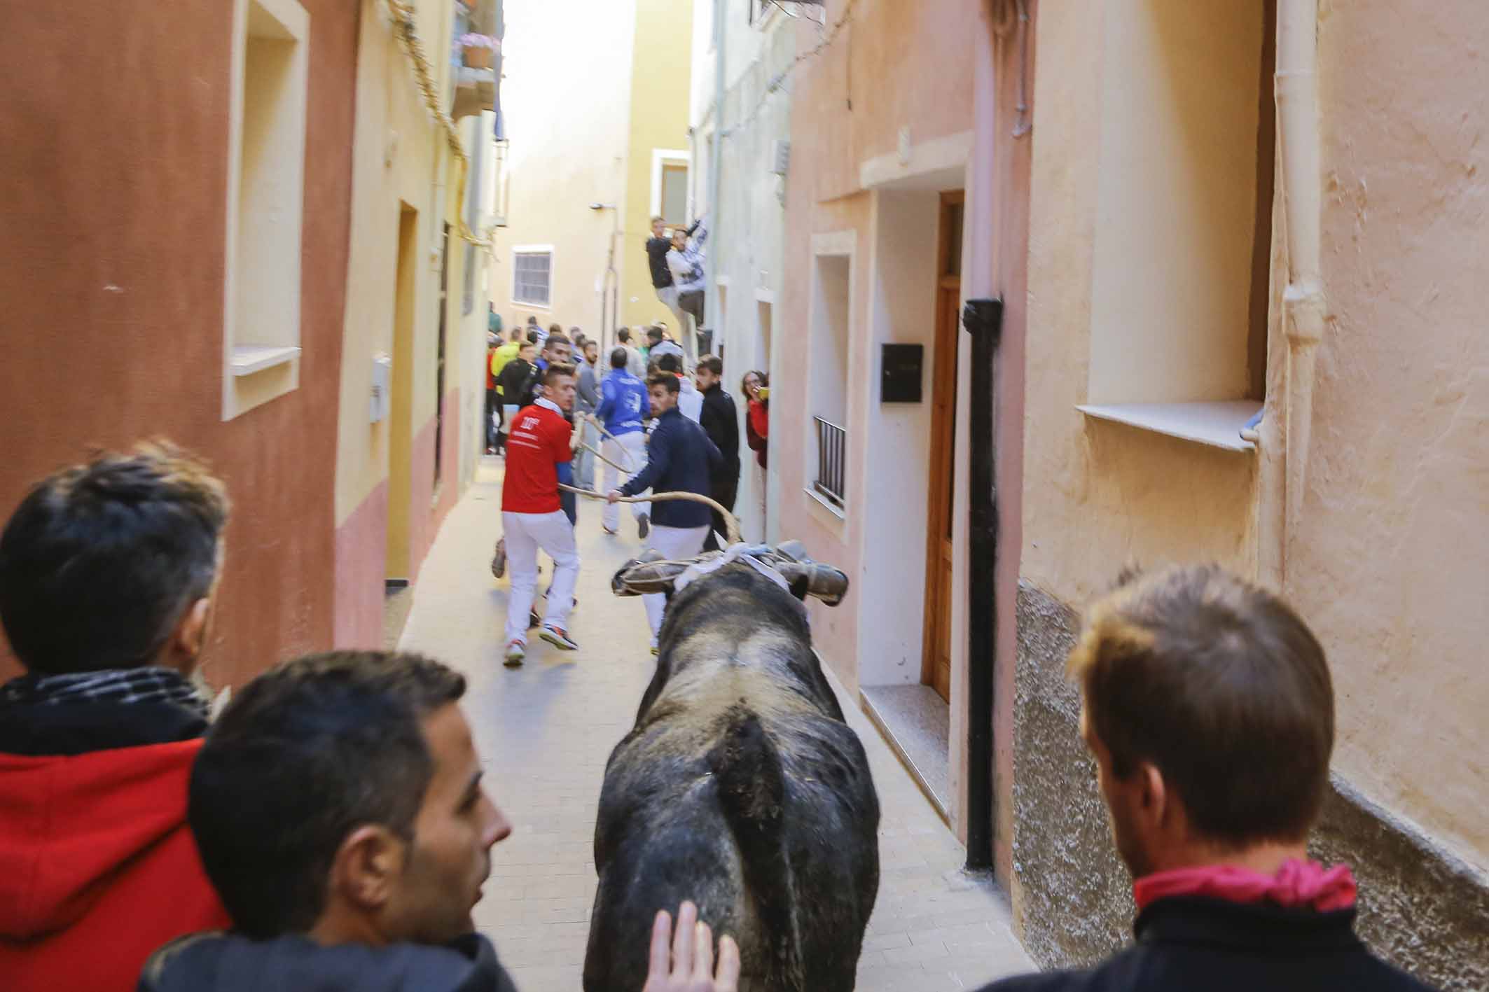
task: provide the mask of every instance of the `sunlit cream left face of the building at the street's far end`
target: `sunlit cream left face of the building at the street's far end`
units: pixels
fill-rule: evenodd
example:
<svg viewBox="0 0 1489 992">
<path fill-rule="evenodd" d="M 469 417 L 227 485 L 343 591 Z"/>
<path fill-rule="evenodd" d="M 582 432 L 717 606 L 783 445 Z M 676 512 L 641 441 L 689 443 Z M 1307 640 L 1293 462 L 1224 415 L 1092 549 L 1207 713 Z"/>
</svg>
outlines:
<svg viewBox="0 0 1489 992">
<path fill-rule="evenodd" d="M 636 0 L 508 0 L 505 12 L 508 226 L 497 231 L 491 299 L 508 327 L 535 315 L 593 333 L 615 214 L 590 204 L 616 204 L 624 229 Z M 518 245 L 552 245 L 546 308 L 512 302 Z"/>
</svg>

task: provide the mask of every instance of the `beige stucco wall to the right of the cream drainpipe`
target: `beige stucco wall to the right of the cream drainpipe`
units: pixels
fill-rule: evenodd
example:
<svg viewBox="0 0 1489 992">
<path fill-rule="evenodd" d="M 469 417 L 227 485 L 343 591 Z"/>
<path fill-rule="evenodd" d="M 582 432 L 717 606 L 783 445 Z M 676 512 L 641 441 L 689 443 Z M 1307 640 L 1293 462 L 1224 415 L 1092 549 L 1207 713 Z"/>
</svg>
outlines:
<svg viewBox="0 0 1489 992">
<path fill-rule="evenodd" d="M 1489 869 L 1489 7 L 1331 7 L 1331 320 L 1288 592 L 1330 653 L 1336 769 Z"/>
</svg>

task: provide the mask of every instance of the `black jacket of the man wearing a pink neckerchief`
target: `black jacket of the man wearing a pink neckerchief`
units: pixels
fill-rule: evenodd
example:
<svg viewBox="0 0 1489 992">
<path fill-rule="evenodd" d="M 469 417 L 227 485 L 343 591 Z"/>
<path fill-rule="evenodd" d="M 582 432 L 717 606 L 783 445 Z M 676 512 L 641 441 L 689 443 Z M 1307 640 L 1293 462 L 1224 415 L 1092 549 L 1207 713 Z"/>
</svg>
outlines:
<svg viewBox="0 0 1489 992">
<path fill-rule="evenodd" d="M 1170 897 L 1133 925 L 1136 943 L 1090 971 L 1004 979 L 984 992 L 1419 992 L 1355 937 L 1355 910 L 1330 913 Z"/>
</svg>

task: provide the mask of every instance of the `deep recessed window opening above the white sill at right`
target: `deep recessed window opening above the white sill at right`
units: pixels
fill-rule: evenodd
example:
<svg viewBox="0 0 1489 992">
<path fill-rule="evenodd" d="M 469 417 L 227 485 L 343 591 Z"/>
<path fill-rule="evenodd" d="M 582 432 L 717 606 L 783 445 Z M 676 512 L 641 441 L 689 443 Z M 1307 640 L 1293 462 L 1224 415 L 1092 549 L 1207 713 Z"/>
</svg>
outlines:
<svg viewBox="0 0 1489 992">
<path fill-rule="evenodd" d="M 1225 406 L 1245 422 L 1266 363 L 1275 4 L 1117 0 L 1112 13 L 1088 403 Z"/>
</svg>

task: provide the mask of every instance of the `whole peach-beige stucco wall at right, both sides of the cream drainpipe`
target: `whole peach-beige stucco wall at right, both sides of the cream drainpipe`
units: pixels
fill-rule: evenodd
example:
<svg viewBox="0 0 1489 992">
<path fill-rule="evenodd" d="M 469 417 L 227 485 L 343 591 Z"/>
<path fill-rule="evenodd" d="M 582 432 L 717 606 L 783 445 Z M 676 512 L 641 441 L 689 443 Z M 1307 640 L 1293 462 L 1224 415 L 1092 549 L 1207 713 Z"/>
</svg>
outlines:
<svg viewBox="0 0 1489 992">
<path fill-rule="evenodd" d="M 1091 245 L 1106 220 L 1105 39 L 1117 6 L 1041 6 L 1035 82 L 1021 573 L 1075 607 L 1127 561 L 1217 559 L 1257 573 L 1257 455 L 1074 409 L 1087 402 L 1100 320 L 1093 286 L 1105 256 Z M 1401 21 L 1392 4 L 1368 0 L 1324 12 L 1330 321 L 1304 512 L 1286 535 L 1286 595 L 1333 665 L 1336 772 L 1482 870 L 1489 67 L 1473 39 L 1489 28 L 1489 9 L 1465 0 Z M 1276 296 L 1278 265 L 1272 280 Z M 1278 335 L 1273 306 L 1273 390 Z"/>
</svg>

